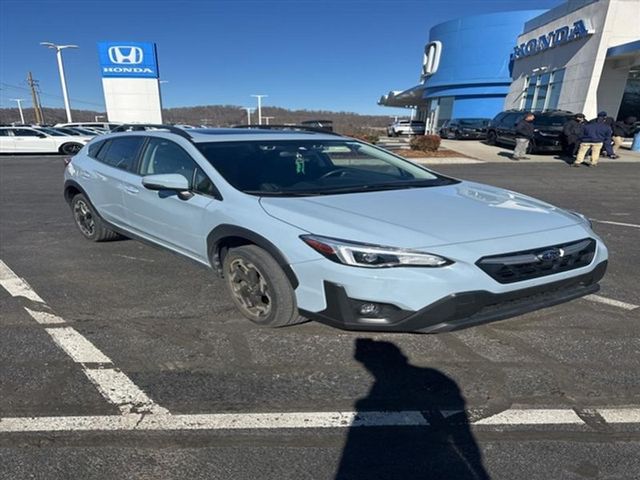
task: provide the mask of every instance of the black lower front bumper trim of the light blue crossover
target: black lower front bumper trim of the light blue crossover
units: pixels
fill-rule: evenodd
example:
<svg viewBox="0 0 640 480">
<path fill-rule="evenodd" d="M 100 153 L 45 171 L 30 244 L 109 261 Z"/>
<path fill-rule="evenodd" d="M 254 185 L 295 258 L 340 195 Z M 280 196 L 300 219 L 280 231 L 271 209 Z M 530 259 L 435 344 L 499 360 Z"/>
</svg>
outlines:
<svg viewBox="0 0 640 480">
<path fill-rule="evenodd" d="M 347 330 L 436 333 L 515 317 L 579 298 L 600 289 L 607 261 L 590 272 L 535 287 L 505 293 L 486 290 L 448 295 L 418 311 L 381 305 L 382 318 L 363 318 L 358 308 L 363 303 L 351 299 L 343 287 L 324 282 L 327 307 L 320 312 L 300 313 L 308 318 Z"/>
</svg>

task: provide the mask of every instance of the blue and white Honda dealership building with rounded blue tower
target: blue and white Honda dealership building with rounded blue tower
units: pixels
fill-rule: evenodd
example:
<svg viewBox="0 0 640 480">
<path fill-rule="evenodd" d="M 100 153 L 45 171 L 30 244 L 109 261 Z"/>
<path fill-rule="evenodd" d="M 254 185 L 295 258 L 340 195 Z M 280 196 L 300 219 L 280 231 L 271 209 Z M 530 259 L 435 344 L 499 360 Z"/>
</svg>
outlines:
<svg viewBox="0 0 640 480">
<path fill-rule="evenodd" d="M 436 25 L 420 83 L 378 103 L 417 109 L 430 130 L 505 109 L 640 117 L 640 0 L 568 0 Z"/>
</svg>

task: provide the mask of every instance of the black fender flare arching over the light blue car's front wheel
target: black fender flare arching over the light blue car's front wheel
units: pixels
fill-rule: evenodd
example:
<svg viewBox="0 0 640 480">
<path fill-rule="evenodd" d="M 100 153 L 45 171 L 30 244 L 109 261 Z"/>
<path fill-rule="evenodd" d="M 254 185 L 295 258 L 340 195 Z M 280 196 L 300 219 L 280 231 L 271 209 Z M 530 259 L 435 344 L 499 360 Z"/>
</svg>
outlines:
<svg viewBox="0 0 640 480">
<path fill-rule="evenodd" d="M 224 246 L 224 241 L 227 239 L 239 239 L 246 241 L 247 243 L 253 243 L 254 245 L 257 245 L 269 252 L 278 265 L 280 265 L 282 270 L 284 270 L 285 275 L 291 282 L 291 286 L 294 289 L 298 287 L 300 282 L 280 249 L 259 233 L 237 225 L 221 224 L 211 230 L 209 235 L 207 235 L 207 252 L 209 252 L 209 259 L 211 261 L 211 265 L 218 271 L 218 273 L 222 275 L 222 259 L 220 254 L 222 253 L 221 250 Z"/>
</svg>

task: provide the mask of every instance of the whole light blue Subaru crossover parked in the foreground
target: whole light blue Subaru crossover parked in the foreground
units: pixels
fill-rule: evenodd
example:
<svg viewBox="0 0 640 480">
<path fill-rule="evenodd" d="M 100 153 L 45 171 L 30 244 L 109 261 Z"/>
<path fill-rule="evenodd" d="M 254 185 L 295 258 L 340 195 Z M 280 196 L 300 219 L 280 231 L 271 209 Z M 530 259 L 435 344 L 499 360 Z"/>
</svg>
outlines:
<svg viewBox="0 0 640 480">
<path fill-rule="evenodd" d="M 78 229 L 217 271 L 260 325 L 451 330 L 593 293 L 607 267 L 583 215 L 351 138 L 153 127 L 73 157 L 64 195 Z"/>
</svg>

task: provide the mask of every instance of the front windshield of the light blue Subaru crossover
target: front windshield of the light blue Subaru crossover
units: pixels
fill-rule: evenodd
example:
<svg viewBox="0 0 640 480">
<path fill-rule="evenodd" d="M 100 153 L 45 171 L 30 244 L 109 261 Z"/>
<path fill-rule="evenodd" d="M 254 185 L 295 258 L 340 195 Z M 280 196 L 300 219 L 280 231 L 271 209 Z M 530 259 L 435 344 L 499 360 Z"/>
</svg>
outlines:
<svg viewBox="0 0 640 480">
<path fill-rule="evenodd" d="M 235 188 L 253 195 L 329 195 L 457 183 L 354 140 L 201 143 Z"/>
</svg>

